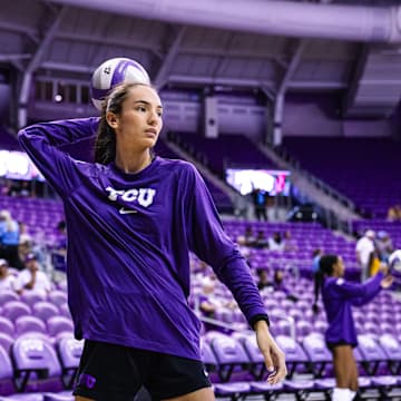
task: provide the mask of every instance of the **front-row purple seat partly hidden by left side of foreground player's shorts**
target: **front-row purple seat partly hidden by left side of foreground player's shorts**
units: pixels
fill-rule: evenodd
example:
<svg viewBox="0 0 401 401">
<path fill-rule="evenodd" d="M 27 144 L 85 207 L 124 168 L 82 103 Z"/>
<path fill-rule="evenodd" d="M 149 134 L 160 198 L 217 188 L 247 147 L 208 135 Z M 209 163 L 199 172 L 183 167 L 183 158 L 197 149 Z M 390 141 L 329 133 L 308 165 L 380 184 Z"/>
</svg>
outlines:
<svg viewBox="0 0 401 401">
<path fill-rule="evenodd" d="M 61 339 L 57 346 L 62 369 L 62 382 L 66 389 L 72 387 L 84 350 L 84 341 Z"/>
</svg>

